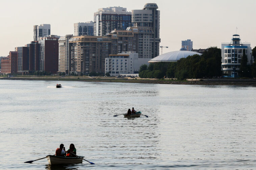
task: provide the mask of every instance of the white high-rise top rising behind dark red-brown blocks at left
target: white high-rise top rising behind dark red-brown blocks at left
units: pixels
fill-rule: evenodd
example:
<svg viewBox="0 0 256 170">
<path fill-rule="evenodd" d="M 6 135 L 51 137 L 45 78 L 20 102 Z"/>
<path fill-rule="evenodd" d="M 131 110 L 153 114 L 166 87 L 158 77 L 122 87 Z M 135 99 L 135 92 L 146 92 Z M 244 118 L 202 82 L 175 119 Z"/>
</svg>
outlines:
<svg viewBox="0 0 256 170">
<path fill-rule="evenodd" d="M 50 24 L 34 25 L 34 41 L 39 41 L 40 37 L 46 37 L 48 35 L 51 35 Z"/>
</svg>

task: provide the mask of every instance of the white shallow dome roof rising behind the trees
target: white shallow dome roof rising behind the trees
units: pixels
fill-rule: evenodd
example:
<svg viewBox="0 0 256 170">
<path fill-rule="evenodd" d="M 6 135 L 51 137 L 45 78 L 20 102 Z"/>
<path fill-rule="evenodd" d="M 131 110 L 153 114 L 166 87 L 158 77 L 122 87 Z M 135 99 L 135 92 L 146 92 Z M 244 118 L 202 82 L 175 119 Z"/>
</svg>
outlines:
<svg viewBox="0 0 256 170">
<path fill-rule="evenodd" d="M 195 54 L 202 55 L 201 53 L 197 52 L 190 52 L 190 51 L 174 51 L 169 53 L 164 53 L 162 55 L 159 55 L 151 60 L 149 60 L 149 63 L 155 63 L 155 62 L 175 62 L 178 61 L 181 58 L 186 58 L 187 56 L 193 56 Z"/>
</svg>

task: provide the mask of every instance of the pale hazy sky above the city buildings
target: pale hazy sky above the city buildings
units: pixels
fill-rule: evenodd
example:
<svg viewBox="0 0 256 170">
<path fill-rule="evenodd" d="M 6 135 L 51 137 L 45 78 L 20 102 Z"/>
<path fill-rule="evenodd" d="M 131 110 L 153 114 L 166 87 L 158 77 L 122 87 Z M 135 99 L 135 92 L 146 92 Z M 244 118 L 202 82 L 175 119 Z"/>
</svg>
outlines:
<svg viewBox="0 0 256 170">
<path fill-rule="evenodd" d="M 2 0 L 0 2 L 0 56 L 33 41 L 33 25 L 51 24 L 51 34 L 74 34 L 74 23 L 93 21 L 98 8 L 121 6 L 142 9 L 154 2 L 160 10 L 163 53 L 179 50 L 191 39 L 193 48 L 221 47 L 232 35 L 256 46 L 256 0 Z M 161 51 L 160 51 L 161 53 Z"/>
</svg>

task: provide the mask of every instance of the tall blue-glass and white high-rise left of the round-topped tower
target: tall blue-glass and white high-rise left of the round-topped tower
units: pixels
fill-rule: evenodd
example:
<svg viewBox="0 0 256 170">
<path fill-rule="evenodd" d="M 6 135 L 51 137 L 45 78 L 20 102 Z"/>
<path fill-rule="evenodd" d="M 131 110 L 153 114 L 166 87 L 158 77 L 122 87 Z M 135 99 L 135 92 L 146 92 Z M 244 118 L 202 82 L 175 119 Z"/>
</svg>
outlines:
<svg viewBox="0 0 256 170">
<path fill-rule="evenodd" d="M 114 29 L 126 30 L 131 26 L 131 12 L 123 7 L 100 8 L 94 13 L 94 35 L 104 36 Z"/>
</svg>

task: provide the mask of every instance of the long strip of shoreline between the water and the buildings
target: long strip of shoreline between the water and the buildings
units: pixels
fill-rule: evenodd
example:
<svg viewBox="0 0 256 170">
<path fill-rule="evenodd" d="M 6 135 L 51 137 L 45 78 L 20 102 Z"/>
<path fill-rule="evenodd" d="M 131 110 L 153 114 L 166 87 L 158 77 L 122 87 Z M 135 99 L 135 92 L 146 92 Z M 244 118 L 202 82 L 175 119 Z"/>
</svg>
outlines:
<svg viewBox="0 0 256 170">
<path fill-rule="evenodd" d="M 86 82 L 126 82 L 150 84 L 190 84 L 211 86 L 256 86 L 256 79 L 145 79 L 145 78 L 116 78 L 116 77 L 86 77 L 86 76 L 17 76 L 0 77 L 0 80 L 50 80 L 50 81 L 86 81 Z"/>
</svg>

